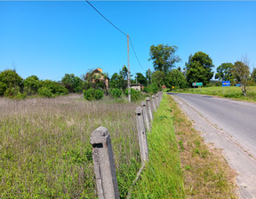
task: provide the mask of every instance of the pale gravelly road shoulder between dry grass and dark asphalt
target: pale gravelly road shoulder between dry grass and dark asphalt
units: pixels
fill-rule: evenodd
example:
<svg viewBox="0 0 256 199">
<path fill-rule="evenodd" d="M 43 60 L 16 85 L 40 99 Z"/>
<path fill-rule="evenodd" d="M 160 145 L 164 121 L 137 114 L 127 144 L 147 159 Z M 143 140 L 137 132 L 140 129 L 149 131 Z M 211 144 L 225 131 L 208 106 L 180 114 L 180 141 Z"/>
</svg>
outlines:
<svg viewBox="0 0 256 199">
<path fill-rule="evenodd" d="M 180 100 L 179 97 L 172 97 L 183 113 L 192 121 L 196 131 L 202 132 L 204 142 L 212 148 L 221 148 L 228 164 L 238 172 L 239 175 L 236 178 L 236 184 L 239 187 L 240 197 L 255 198 L 256 193 L 253 190 L 255 189 L 255 176 L 251 175 L 251 172 L 248 172 L 255 172 L 255 160 L 243 148 L 239 147 L 236 141 L 228 136 L 228 133 L 220 130 L 216 124 L 211 123 L 204 115 L 200 115 L 193 107 L 188 106 L 185 101 Z"/>
</svg>

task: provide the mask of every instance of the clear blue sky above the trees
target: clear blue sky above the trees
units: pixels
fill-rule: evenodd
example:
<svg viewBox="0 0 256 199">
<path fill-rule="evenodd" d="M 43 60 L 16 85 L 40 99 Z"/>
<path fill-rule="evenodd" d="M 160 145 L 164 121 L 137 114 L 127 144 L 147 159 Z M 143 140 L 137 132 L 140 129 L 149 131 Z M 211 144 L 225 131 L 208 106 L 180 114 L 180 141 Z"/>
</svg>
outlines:
<svg viewBox="0 0 256 199">
<path fill-rule="evenodd" d="M 108 20 L 132 37 L 144 69 L 152 44 L 178 46 L 184 68 L 195 52 L 215 68 L 247 54 L 256 67 L 256 2 L 92 1 Z M 127 66 L 127 40 L 85 1 L 0 1 L 0 71 L 60 80 L 90 68 L 111 76 Z M 131 72 L 145 74 L 131 49 Z M 14 65 L 13 65 L 14 62 Z"/>
</svg>

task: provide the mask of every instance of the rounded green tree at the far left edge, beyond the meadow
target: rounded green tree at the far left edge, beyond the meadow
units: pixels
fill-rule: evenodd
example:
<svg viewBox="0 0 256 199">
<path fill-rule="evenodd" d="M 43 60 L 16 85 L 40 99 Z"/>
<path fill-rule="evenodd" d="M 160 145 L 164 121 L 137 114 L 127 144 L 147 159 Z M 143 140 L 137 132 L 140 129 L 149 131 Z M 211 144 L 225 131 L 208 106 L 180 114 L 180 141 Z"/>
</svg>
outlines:
<svg viewBox="0 0 256 199">
<path fill-rule="evenodd" d="M 0 73 L 0 96 L 14 97 L 23 89 L 23 79 L 15 70 L 6 69 Z"/>
</svg>

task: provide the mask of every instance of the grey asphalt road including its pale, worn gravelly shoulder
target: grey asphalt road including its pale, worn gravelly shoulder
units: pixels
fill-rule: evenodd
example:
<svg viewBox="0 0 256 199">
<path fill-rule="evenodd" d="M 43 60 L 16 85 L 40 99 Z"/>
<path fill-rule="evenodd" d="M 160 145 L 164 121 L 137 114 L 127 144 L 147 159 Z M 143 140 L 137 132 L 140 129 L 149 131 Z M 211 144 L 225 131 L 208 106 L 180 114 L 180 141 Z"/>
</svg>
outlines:
<svg viewBox="0 0 256 199">
<path fill-rule="evenodd" d="M 206 142 L 220 147 L 238 173 L 241 198 L 256 198 L 256 104 L 206 95 L 170 93 L 203 131 Z"/>
</svg>

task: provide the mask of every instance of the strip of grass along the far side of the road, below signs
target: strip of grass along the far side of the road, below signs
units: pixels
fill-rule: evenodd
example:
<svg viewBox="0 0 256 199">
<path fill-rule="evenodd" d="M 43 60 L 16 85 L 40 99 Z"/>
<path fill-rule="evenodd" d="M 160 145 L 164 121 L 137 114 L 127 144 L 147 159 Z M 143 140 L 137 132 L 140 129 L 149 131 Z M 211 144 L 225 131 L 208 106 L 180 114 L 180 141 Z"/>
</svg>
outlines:
<svg viewBox="0 0 256 199">
<path fill-rule="evenodd" d="M 205 87 L 205 88 L 196 88 L 196 89 L 180 89 L 174 90 L 172 92 L 184 92 L 184 93 L 196 93 L 196 94 L 205 94 L 205 95 L 215 95 L 224 98 L 230 98 L 235 100 L 249 100 L 249 101 L 256 101 L 256 86 L 248 86 L 248 91 L 246 92 L 246 97 L 243 96 L 240 87 L 230 86 L 228 91 L 228 86 L 224 88 L 221 86 L 215 87 Z"/>
</svg>

